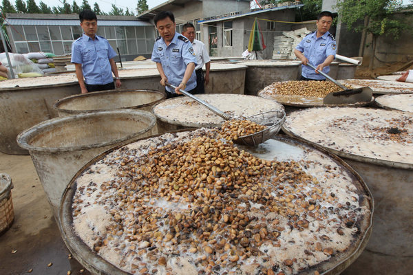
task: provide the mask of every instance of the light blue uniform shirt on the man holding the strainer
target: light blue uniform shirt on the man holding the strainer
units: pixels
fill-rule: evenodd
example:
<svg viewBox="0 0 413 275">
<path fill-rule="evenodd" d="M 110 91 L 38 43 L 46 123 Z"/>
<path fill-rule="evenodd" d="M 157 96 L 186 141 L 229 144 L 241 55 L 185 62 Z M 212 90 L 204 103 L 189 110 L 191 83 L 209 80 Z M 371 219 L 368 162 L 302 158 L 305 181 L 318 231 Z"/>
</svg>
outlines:
<svg viewBox="0 0 413 275">
<path fill-rule="evenodd" d="M 153 51 L 151 60 L 160 63 L 165 75 L 168 78 L 168 82 L 174 86 L 179 86 L 184 78 L 185 70 L 189 63 L 194 63 L 196 66 L 195 52 L 193 51 L 192 44 L 185 36 L 175 33 L 169 46 L 165 43 L 162 37 L 158 37 L 153 45 Z M 186 91 L 195 89 L 196 87 L 196 75 L 195 70 L 191 74 L 187 83 Z M 166 87 L 167 91 L 175 93 L 175 91 Z"/>
</svg>

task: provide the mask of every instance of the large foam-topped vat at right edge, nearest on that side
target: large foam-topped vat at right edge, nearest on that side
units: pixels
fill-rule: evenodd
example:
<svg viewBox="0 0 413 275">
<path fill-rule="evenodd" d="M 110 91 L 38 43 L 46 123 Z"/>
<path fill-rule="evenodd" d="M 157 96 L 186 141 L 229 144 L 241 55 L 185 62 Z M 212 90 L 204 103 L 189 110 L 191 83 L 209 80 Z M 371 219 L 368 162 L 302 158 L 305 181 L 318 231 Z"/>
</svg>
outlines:
<svg viewBox="0 0 413 275">
<path fill-rule="evenodd" d="M 411 157 L 409 159 L 400 155 L 412 155 L 412 146 L 409 145 L 412 144 L 412 135 L 410 133 L 405 135 L 405 142 L 403 142 L 405 145 L 399 147 L 400 151 L 394 150 L 392 142 L 383 146 L 381 142 L 379 143 L 379 138 L 382 137 L 386 141 L 385 136 L 388 134 L 381 129 L 390 129 L 390 126 L 396 123 L 392 122 L 396 115 L 401 115 L 407 132 L 411 131 L 412 123 L 403 119 L 403 113 L 400 111 L 346 109 L 321 108 L 290 113 L 282 126 L 283 131 L 301 140 L 321 145 L 342 157 L 361 175 L 372 191 L 375 201 L 372 236 L 366 250 L 344 274 L 411 274 L 413 270 L 413 161 Z M 363 110 L 369 113 L 366 115 L 367 123 L 355 124 L 357 116 L 360 118 L 357 112 Z M 343 111 L 346 111 L 347 115 L 341 115 Z M 340 115 L 337 115 L 338 112 Z M 377 118 L 377 115 L 373 116 L 374 112 L 379 113 L 382 120 Z M 350 113 L 357 113 L 357 116 Z M 404 114 L 404 117 L 410 116 L 408 113 Z M 300 122 L 297 120 L 299 116 L 303 118 Z M 307 124 L 304 117 L 308 118 Z M 346 120 L 354 126 L 346 126 Z M 332 128 L 332 123 L 337 125 Z M 370 126 L 366 124 L 369 123 L 380 125 L 375 128 L 376 135 L 368 130 Z M 319 126 L 316 128 L 315 125 Z M 324 125 L 329 125 L 329 128 L 323 127 Z M 356 128 L 358 131 L 354 132 Z M 359 133 L 362 132 L 366 133 L 366 140 L 359 143 L 361 140 Z M 324 135 L 325 138 L 320 135 Z M 341 146 L 343 142 L 348 145 Z M 377 157 L 370 155 L 377 155 Z M 395 160 L 392 161 L 392 158 Z"/>
</svg>

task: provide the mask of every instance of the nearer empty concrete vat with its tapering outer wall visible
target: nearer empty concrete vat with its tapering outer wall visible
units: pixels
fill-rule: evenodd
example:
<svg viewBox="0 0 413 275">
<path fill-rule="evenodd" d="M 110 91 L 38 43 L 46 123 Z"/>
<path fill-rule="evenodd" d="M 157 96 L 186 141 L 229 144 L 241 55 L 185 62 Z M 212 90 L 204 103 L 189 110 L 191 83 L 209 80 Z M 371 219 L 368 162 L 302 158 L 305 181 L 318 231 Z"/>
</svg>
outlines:
<svg viewBox="0 0 413 275">
<path fill-rule="evenodd" d="M 74 174 L 109 148 L 156 133 L 147 111 L 114 110 L 68 115 L 23 131 L 19 145 L 30 152 L 50 206 L 57 217 L 61 196 Z"/>
</svg>

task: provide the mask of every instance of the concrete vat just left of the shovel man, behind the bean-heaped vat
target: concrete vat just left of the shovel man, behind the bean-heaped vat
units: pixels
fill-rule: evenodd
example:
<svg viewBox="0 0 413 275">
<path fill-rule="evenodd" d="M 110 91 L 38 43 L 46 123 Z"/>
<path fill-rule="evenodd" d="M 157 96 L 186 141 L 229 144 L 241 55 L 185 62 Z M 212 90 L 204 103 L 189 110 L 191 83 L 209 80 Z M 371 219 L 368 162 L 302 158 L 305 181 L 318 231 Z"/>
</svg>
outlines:
<svg viewBox="0 0 413 275">
<path fill-rule="evenodd" d="M 273 82 L 297 80 L 298 61 L 244 61 L 246 69 L 245 94 L 257 96 L 258 91 Z"/>
</svg>

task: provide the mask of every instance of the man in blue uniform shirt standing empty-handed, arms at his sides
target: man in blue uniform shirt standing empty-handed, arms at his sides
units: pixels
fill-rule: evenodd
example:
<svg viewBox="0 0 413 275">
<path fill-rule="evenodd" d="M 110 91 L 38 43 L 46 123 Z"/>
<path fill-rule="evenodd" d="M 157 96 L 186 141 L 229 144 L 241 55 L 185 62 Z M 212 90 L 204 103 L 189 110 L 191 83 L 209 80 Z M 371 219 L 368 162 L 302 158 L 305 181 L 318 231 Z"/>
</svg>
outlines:
<svg viewBox="0 0 413 275">
<path fill-rule="evenodd" d="M 98 18 L 92 10 L 83 10 L 79 14 L 83 36 L 72 44 L 72 63 L 82 94 L 88 91 L 103 91 L 120 87 L 120 78 L 114 57 L 116 52 L 109 42 L 96 35 Z M 84 78 L 84 80 L 83 80 Z"/>
</svg>

